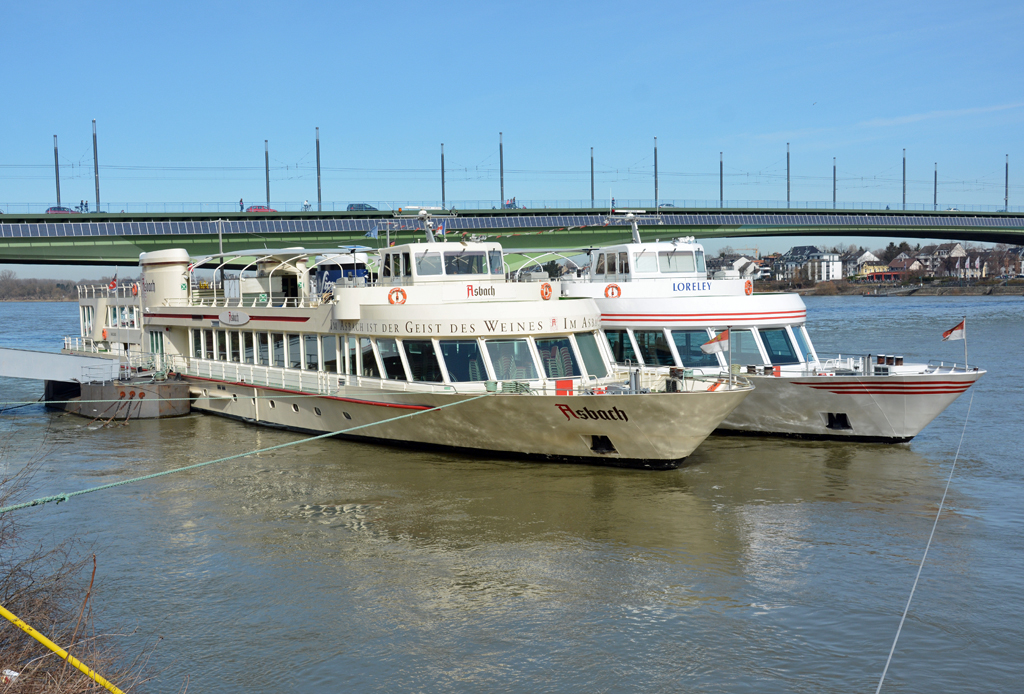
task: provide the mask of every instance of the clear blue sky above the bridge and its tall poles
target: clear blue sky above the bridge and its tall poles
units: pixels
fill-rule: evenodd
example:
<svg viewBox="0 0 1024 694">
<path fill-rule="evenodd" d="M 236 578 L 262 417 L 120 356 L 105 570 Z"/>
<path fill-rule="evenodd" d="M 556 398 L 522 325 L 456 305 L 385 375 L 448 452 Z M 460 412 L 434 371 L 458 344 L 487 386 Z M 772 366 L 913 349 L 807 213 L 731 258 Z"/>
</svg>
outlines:
<svg viewBox="0 0 1024 694">
<path fill-rule="evenodd" d="M 653 198 L 1024 204 L 1024 5 L 38 2 L 4 9 L 0 207 Z M 1019 176 L 1015 172 L 1019 171 Z M 1020 182 L 1014 183 L 1014 180 Z"/>
</svg>

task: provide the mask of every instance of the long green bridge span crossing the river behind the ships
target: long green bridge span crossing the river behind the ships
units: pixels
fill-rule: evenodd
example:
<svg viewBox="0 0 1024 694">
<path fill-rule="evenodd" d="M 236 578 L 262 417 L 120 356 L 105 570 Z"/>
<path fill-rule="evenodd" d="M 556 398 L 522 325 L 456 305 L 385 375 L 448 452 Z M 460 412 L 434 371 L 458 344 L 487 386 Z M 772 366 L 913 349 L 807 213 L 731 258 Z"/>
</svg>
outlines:
<svg viewBox="0 0 1024 694">
<path fill-rule="evenodd" d="M 413 208 L 416 212 L 417 209 Z M 432 210 L 446 235 L 498 241 L 508 250 L 579 249 L 629 241 L 616 210 Z M 1024 213 L 864 210 L 636 210 L 644 238 L 892 236 L 1024 245 Z M 423 237 L 415 214 L 282 212 L 0 216 L 0 262 L 133 265 L 139 253 L 193 255 L 252 248 L 384 246 Z"/>
</svg>

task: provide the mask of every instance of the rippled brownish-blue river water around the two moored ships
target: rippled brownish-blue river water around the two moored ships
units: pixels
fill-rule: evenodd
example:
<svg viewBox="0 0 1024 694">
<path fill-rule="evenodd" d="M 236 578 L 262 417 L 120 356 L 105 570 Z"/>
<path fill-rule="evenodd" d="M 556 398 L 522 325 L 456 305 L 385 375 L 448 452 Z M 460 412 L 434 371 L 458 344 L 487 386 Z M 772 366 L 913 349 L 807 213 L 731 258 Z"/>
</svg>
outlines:
<svg viewBox="0 0 1024 694">
<path fill-rule="evenodd" d="M 904 445 L 712 437 L 637 472 L 328 440 L 18 513 L 95 551 L 103 623 L 162 637 L 152 691 L 873 691 L 970 404 L 883 691 L 1020 691 L 1024 302 L 806 301 L 822 355 L 962 360 L 940 335 L 967 315 L 989 374 Z M 75 304 L 0 317 L 4 346 L 78 332 Z M 33 495 L 299 438 L 86 423 L 0 416 L 8 464 L 42 459 Z"/>
</svg>

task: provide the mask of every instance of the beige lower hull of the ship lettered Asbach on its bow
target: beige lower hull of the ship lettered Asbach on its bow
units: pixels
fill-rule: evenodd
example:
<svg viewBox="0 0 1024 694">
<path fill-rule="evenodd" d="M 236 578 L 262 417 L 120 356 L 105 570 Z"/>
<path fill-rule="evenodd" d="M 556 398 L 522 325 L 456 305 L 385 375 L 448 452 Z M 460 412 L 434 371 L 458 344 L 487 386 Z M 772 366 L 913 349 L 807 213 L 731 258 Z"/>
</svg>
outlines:
<svg viewBox="0 0 1024 694">
<path fill-rule="evenodd" d="M 650 470 L 682 465 L 751 392 L 478 397 L 352 388 L 326 396 L 188 381 L 193 409 L 252 424 L 402 446 Z"/>
</svg>

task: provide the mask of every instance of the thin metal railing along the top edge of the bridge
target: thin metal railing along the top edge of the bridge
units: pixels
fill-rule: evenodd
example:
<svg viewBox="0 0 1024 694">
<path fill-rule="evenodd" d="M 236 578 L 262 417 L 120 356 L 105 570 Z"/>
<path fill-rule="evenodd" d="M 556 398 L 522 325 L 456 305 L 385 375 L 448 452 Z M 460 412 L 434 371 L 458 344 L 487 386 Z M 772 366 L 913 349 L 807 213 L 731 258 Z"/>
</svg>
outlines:
<svg viewBox="0 0 1024 694">
<path fill-rule="evenodd" d="M 324 212 L 345 212 L 348 211 L 349 201 L 329 202 L 321 206 Z M 399 209 L 434 208 L 436 210 L 501 210 L 510 209 L 511 206 L 503 206 L 501 202 L 495 200 L 459 200 L 446 201 L 442 206 L 438 200 L 428 201 L 365 201 L 358 204 L 369 205 L 377 211 L 390 212 Z M 0 212 L 6 214 L 43 214 L 47 209 L 53 207 L 52 203 L 0 203 Z M 67 206 L 66 206 L 67 207 Z M 244 206 L 247 208 L 248 206 Z M 314 204 L 307 209 L 302 202 L 275 202 L 270 207 L 275 212 L 317 212 Z M 669 199 L 658 200 L 655 206 L 653 199 L 641 198 L 617 198 L 613 200 L 579 200 L 579 199 L 538 199 L 538 200 L 517 200 L 515 209 L 526 210 L 608 210 L 612 208 L 643 208 L 654 209 L 655 207 L 670 211 L 677 209 L 725 209 L 725 210 L 894 210 L 894 211 L 914 211 L 914 212 L 1024 212 L 1024 206 L 1011 205 L 1009 210 L 1005 205 L 979 205 L 973 203 L 942 203 L 933 205 L 932 203 L 876 203 L 876 202 L 841 202 L 831 201 L 777 201 L 777 200 L 687 200 Z M 79 214 L 78 206 L 70 208 L 73 214 Z M 104 214 L 173 214 L 173 213 L 201 213 L 213 214 L 221 212 L 244 212 L 240 210 L 239 204 L 226 202 L 180 202 L 180 203 L 153 203 L 153 202 L 123 202 L 103 203 L 100 209 L 90 208 L 89 212 L 102 212 Z M 360 210 L 354 210 L 357 213 Z M 82 213 L 89 214 L 89 213 Z M 261 212 L 249 213 L 253 217 L 259 217 Z"/>
</svg>

